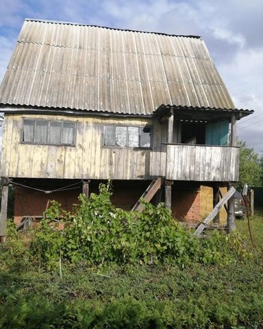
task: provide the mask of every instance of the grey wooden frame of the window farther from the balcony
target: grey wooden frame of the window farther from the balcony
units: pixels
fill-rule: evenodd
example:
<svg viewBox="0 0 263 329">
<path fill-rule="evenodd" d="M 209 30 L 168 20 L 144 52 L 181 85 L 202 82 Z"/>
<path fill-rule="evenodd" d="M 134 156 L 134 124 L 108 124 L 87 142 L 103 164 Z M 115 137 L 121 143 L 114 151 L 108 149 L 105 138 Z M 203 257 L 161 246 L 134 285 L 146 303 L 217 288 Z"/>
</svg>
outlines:
<svg viewBox="0 0 263 329">
<path fill-rule="evenodd" d="M 33 142 L 23 141 L 23 132 L 24 132 L 24 123 L 25 123 L 25 121 L 34 121 L 34 136 L 33 136 L 34 141 Z M 47 142 L 36 142 L 35 141 L 35 138 L 36 138 L 36 136 L 35 136 L 35 134 L 36 134 L 36 122 L 37 121 L 47 122 L 48 123 L 48 126 L 47 126 Z M 49 143 L 49 131 L 50 131 L 51 122 L 59 122 L 61 124 L 60 125 L 60 143 Z M 64 123 L 71 123 L 71 124 L 74 125 L 73 143 L 71 143 L 71 144 L 61 143 Z M 62 127 L 62 129 L 61 129 L 61 127 Z M 30 145 L 55 145 L 55 146 L 73 146 L 73 147 L 75 147 L 75 145 L 76 145 L 76 134 L 77 134 L 77 122 L 76 121 L 53 120 L 53 119 L 32 119 L 32 118 L 23 117 L 22 118 L 22 129 L 21 129 L 20 143 L 21 144 L 30 144 Z"/>
</svg>

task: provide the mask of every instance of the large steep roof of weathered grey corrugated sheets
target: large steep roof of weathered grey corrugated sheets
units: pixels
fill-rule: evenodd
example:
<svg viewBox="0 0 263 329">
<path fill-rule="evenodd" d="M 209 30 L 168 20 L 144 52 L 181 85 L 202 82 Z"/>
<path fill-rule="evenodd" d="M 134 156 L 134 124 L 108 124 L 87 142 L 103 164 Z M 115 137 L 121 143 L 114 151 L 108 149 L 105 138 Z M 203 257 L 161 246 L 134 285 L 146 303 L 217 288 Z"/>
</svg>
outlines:
<svg viewBox="0 0 263 329">
<path fill-rule="evenodd" d="M 162 103 L 234 108 L 201 38 L 27 19 L 5 105 L 151 114 Z"/>
</svg>

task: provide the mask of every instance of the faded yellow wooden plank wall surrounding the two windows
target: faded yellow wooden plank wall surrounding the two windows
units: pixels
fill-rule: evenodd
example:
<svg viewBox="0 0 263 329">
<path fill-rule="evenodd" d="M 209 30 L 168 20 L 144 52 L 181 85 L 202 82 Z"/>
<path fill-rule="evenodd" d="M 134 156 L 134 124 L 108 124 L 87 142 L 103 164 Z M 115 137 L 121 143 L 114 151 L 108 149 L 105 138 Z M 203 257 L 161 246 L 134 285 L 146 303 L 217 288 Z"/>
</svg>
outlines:
<svg viewBox="0 0 263 329">
<path fill-rule="evenodd" d="M 23 118 L 77 122 L 75 147 L 20 143 Z M 102 147 L 103 125 L 153 125 L 153 149 Z M 1 176 L 115 180 L 160 177 L 165 174 L 163 127 L 148 118 L 5 114 Z"/>
</svg>

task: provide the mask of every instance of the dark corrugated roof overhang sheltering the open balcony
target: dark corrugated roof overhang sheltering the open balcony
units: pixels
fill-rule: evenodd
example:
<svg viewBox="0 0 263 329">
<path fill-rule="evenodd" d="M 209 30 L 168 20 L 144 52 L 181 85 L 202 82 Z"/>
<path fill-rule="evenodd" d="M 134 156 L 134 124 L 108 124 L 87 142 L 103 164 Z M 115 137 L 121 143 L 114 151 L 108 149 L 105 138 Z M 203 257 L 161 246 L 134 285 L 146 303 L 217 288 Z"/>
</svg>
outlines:
<svg viewBox="0 0 263 329">
<path fill-rule="evenodd" d="M 164 105 L 162 104 L 155 112 L 153 117 L 159 119 L 160 122 L 165 121 L 171 115 L 179 120 L 194 120 L 194 121 L 222 121 L 231 120 L 232 114 L 236 115 L 236 119 L 240 120 L 252 114 L 253 110 L 238 110 L 227 108 L 205 108 L 193 106 L 177 106 L 177 105 Z"/>
</svg>

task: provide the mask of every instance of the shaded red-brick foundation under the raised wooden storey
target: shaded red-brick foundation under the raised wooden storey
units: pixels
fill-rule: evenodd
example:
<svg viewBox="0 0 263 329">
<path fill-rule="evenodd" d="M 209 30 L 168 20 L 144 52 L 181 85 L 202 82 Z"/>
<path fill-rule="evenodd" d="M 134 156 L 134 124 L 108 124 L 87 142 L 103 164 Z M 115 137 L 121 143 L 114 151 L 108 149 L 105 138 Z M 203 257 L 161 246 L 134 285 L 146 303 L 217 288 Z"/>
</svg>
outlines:
<svg viewBox="0 0 263 329">
<path fill-rule="evenodd" d="M 90 180 L 88 184 L 89 194 L 99 193 L 99 184 L 101 182 L 106 183 L 106 181 L 101 180 Z M 116 208 L 132 210 L 150 182 L 148 180 L 112 181 L 112 203 Z M 71 184 L 75 185 L 68 187 L 65 191 L 60 191 L 63 186 Z M 25 180 L 23 185 L 30 188 L 19 185 L 15 187 L 14 222 L 16 224 L 20 223 L 23 217 L 34 217 L 36 219 L 42 217 L 42 213 L 49 206 L 50 200 L 55 200 L 61 204 L 64 210 L 71 212 L 73 205 L 78 204 L 79 194 L 83 193 L 82 182 L 75 180 L 30 180 L 30 185 L 27 185 Z M 36 191 L 36 189 L 42 191 Z M 50 193 L 55 189 L 59 191 Z M 43 191 L 48 191 L 48 193 Z M 223 194 L 225 194 L 224 191 Z M 160 201 L 165 202 L 165 193 L 162 193 L 161 197 L 153 197 L 151 200 L 153 204 Z M 192 184 L 182 182 L 174 182 L 171 185 L 171 211 L 175 219 L 188 223 L 199 223 L 209 214 L 212 208 L 213 188 L 198 184 L 192 186 Z M 219 216 L 219 223 L 224 225 L 226 219 L 227 213 L 223 209 Z"/>
</svg>

